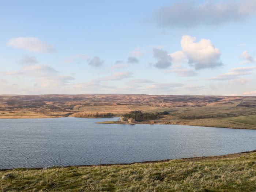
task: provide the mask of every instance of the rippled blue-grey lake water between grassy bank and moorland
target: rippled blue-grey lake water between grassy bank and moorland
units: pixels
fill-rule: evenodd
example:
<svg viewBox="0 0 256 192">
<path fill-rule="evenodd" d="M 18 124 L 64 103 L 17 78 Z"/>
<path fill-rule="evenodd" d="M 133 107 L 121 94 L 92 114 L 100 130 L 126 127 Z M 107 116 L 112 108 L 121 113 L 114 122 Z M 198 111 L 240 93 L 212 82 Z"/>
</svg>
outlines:
<svg viewBox="0 0 256 192">
<path fill-rule="evenodd" d="M 117 118 L 0 119 L 0 167 L 131 163 L 256 149 L 256 130 L 95 124 Z"/>
</svg>

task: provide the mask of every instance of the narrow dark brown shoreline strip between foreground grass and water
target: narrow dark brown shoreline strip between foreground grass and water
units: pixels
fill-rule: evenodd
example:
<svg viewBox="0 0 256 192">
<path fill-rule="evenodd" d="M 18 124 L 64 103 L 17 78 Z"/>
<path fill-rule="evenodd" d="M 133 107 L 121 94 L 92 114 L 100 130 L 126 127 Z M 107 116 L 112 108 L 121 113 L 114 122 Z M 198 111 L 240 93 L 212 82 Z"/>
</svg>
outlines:
<svg viewBox="0 0 256 192">
<path fill-rule="evenodd" d="M 162 163 L 162 162 L 169 162 L 169 161 L 184 161 L 184 162 L 198 162 L 198 161 L 212 161 L 212 160 L 219 160 L 219 159 L 228 159 L 228 158 L 236 158 L 241 157 L 244 155 L 248 155 L 251 153 L 256 153 L 256 150 L 252 151 L 244 151 L 240 153 L 231 153 L 226 155 L 212 155 L 212 156 L 202 156 L 202 157 L 188 157 L 188 158 L 179 158 L 179 159 L 164 159 L 164 160 L 155 160 L 155 161 L 142 161 L 142 162 L 132 162 L 132 163 L 108 163 L 108 164 L 98 164 L 98 165 L 67 165 L 67 166 L 60 166 L 61 168 L 67 168 L 67 167 L 100 167 L 100 166 L 115 166 L 115 165 L 134 165 L 134 164 L 146 164 L 146 163 Z M 46 166 L 48 167 L 48 166 Z M 49 166 L 47 169 L 50 168 L 56 168 L 59 166 Z M 8 170 L 14 170 L 14 169 L 26 169 L 26 170 L 41 170 L 45 167 L 16 167 L 16 168 L 10 168 L 10 169 L 0 169 L 0 172 L 5 172 Z"/>
</svg>

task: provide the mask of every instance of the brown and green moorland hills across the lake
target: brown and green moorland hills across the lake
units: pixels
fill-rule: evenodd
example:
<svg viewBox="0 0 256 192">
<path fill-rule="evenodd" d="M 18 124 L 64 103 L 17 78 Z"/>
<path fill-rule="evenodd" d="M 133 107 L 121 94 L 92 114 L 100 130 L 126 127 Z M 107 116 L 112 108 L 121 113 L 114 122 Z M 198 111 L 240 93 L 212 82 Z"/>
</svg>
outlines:
<svg viewBox="0 0 256 192">
<path fill-rule="evenodd" d="M 256 97 L 145 94 L 0 95 L 0 118 L 115 116 L 141 110 L 169 114 L 156 123 L 256 129 Z M 140 123 L 148 123 L 144 120 Z"/>
</svg>

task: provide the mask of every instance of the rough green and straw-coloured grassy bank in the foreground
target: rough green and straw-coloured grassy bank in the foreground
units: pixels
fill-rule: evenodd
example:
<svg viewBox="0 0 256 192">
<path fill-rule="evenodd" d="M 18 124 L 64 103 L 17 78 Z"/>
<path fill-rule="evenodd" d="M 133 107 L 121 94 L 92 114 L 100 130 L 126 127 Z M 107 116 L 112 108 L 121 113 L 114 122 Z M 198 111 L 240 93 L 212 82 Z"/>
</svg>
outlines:
<svg viewBox="0 0 256 192">
<path fill-rule="evenodd" d="M 256 191 L 256 153 L 132 165 L 14 169 L 1 191 Z"/>
</svg>

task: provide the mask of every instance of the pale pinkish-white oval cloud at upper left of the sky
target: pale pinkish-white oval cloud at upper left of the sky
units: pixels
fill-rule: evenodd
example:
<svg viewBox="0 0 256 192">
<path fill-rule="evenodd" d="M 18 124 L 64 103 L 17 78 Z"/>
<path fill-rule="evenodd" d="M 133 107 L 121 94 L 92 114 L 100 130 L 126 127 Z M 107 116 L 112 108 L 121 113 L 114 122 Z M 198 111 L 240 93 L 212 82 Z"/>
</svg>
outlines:
<svg viewBox="0 0 256 192">
<path fill-rule="evenodd" d="M 25 49 L 35 53 L 53 52 L 54 48 L 47 42 L 41 41 L 37 37 L 18 37 L 12 38 L 7 42 L 7 45 L 16 49 Z"/>
</svg>

